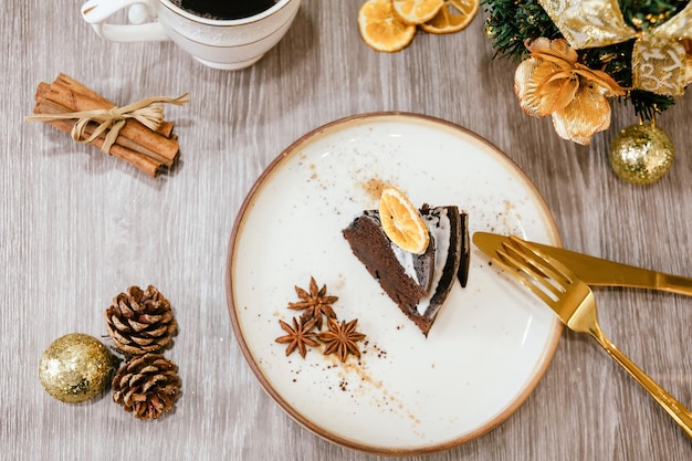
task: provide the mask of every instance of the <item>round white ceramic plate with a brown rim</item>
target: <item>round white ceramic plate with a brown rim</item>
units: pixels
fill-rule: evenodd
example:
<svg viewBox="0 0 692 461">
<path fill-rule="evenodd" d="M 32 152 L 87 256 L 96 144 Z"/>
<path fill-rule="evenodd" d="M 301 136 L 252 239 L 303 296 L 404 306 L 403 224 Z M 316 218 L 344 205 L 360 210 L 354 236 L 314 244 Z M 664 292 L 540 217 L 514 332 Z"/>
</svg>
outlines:
<svg viewBox="0 0 692 461">
<path fill-rule="evenodd" d="M 428 338 L 353 255 L 342 230 L 377 208 L 371 188 L 394 184 L 418 206 L 457 205 L 470 230 L 560 244 L 527 177 L 494 146 L 457 125 L 400 113 L 323 126 L 262 174 L 235 222 L 228 255 L 232 325 L 264 389 L 297 422 L 349 448 L 419 454 L 485 433 L 526 399 L 562 331 L 552 312 L 499 276 L 475 248 Z M 312 349 L 285 356 L 294 285 L 313 275 L 358 319 L 363 356 L 342 364 Z"/>
</svg>

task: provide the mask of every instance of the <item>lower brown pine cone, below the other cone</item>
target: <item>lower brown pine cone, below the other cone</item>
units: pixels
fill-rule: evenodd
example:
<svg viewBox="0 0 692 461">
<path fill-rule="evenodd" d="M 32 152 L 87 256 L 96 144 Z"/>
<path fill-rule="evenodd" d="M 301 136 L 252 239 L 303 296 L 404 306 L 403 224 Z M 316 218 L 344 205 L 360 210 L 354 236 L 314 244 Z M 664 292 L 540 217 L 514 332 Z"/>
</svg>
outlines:
<svg viewBox="0 0 692 461">
<path fill-rule="evenodd" d="M 178 367 L 161 354 L 133 357 L 113 378 L 113 401 L 139 419 L 170 411 L 179 394 Z"/>
</svg>

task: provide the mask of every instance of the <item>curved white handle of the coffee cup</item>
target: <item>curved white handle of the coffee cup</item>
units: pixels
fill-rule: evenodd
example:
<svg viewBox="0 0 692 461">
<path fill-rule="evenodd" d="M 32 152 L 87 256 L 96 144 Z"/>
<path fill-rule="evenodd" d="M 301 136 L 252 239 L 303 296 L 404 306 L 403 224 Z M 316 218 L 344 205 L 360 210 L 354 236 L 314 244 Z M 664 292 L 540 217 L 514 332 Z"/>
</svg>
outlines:
<svg viewBox="0 0 692 461">
<path fill-rule="evenodd" d="M 140 4 L 154 21 L 144 24 L 108 24 L 106 20 L 116 12 Z M 82 18 L 92 24 L 98 36 L 112 42 L 160 42 L 170 40 L 162 25 L 156 21 L 158 0 L 88 0 L 82 6 Z"/>
</svg>

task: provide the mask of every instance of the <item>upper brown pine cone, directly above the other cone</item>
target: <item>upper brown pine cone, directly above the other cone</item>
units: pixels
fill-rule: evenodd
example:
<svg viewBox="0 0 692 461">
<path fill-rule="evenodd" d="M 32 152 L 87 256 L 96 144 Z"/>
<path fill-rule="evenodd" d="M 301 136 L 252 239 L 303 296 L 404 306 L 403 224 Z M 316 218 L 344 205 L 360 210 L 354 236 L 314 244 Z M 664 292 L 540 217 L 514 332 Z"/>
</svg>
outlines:
<svg viewBox="0 0 692 461">
<path fill-rule="evenodd" d="M 106 308 L 106 328 L 116 347 L 129 355 L 164 349 L 178 328 L 170 303 L 157 289 L 130 286 Z"/>
</svg>

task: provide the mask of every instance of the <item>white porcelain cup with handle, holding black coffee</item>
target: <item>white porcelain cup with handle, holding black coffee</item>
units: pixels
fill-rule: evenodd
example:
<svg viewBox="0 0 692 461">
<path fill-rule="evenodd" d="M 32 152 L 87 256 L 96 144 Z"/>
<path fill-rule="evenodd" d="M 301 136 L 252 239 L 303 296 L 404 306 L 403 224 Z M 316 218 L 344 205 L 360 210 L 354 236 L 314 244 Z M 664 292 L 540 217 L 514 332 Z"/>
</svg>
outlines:
<svg viewBox="0 0 692 461">
<path fill-rule="evenodd" d="M 251 66 L 279 43 L 300 6 L 301 0 L 277 0 L 249 18 L 218 20 L 196 15 L 169 0 L 88 0 L 82 6 L 82 18 L 112 42 L 172 40 L 202 64 L 239 70 Z M 106 23 L 128 7 L 130 24 Z"/>
</svg>

